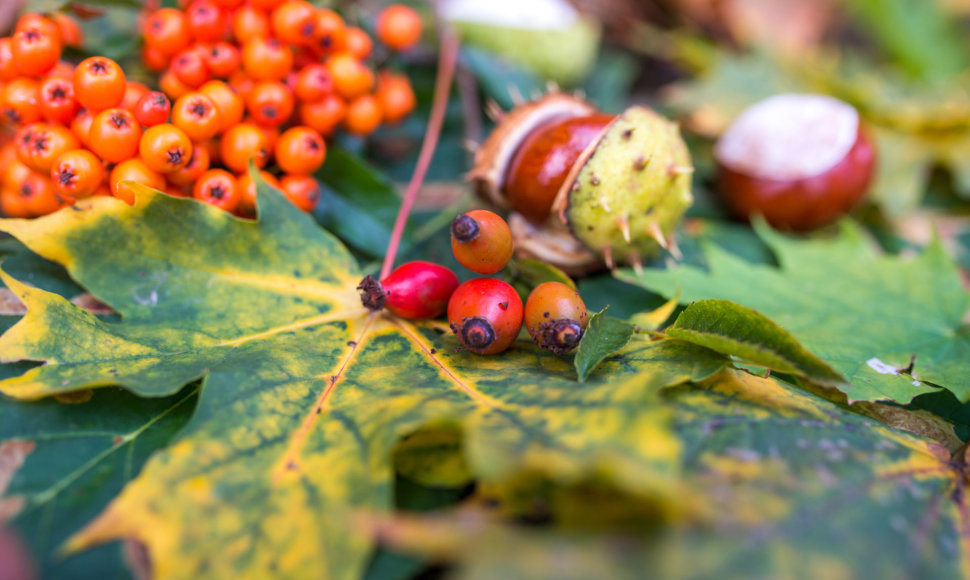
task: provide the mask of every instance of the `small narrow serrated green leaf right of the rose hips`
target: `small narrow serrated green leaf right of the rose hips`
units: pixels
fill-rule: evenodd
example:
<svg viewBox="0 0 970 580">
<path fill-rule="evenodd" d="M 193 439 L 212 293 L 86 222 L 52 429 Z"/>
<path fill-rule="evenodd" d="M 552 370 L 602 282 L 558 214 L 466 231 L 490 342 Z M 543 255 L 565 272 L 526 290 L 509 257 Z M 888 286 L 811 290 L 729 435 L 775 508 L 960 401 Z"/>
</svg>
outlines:
<svg viewBox="0 0 970 580">
<path fill-rule="evenodd" d="M 744 362 L 805 377 L 823 385 L 845 379 L 763 314 L 729 300 L 699 300 L 680 313 L 665 333 L 734 355 Z"/>
</svg>

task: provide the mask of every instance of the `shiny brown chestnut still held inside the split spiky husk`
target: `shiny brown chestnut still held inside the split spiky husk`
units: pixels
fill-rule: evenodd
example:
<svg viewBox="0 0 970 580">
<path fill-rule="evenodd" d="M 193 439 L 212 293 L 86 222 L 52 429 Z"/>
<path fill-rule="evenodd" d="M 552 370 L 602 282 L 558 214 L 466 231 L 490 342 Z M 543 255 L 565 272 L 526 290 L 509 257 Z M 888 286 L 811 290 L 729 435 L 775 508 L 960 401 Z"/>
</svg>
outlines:
<svg viewBox="0 0 970 580">
<path fill-rule="evenodd" d="M 512 158 L 502 185 L 512 209 L 533 223 L 545 221 L 580 154 L 614 118 L 597 113 L 557 119 L 526 137 Z"/>
</svg>

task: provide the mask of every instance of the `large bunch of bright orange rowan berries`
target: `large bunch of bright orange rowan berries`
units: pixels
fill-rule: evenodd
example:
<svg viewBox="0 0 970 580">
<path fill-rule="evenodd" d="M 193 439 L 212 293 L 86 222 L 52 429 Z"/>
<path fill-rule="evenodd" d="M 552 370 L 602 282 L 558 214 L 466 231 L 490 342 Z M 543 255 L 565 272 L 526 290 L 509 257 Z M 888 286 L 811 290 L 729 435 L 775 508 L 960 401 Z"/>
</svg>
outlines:
<svg viewBox="0 0 970 580">
<path fill-rule="evenodd" d="M 405 50 L 420 17 L 393 5 L 379 40 Z M 338 128 L 367 135 L 415 105 L 402 74 L 375 74 L 373 43 L 335 12 L 304 0 L 190 0 L 145 14 L 143 61 L 160 91 L 126 78 L 109 58 L 61 61 L 80 43 L 62 14 L 26 14 L 0 38 L 0 108 L 17 132 L 0 148 L 0 213 L 33 217 L 127 184 L 255 213 L 250 161 L 304 211 L 319 199 L 312 174 Z"/>
</svg>

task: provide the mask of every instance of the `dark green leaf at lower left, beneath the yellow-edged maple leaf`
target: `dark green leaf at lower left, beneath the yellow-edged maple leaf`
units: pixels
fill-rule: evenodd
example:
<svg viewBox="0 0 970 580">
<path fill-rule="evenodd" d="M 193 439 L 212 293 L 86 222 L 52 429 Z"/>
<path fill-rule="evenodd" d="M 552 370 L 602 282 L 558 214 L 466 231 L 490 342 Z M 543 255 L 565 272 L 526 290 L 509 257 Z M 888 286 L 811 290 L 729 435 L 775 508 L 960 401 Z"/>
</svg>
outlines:
<svg viewBox="0 0 970 580">
<path fill-rule="evenodd" d="M 66 558 L 55 550 L 186 424 L 197 391 L 189 387 L 171 397 L 141 399 L 121 389 L 98 389 L 88 394 L 90 400 L 82 396 L 73 404 L 48 399 L 23 405 L 0 398 L 0 441 L 30 449 L 10 488 L 5 494 L 0 489 L 0 506 L 17 507 L 12 524 L 32 547 L 41 577 L 127 575 L 117 545 Z"/>
</svg>

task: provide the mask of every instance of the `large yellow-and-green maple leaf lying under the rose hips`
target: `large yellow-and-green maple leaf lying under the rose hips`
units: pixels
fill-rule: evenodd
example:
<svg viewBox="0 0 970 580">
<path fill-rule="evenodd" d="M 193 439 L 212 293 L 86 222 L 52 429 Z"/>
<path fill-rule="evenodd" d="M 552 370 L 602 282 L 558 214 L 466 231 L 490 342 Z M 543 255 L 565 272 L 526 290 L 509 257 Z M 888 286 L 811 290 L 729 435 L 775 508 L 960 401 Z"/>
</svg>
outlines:
<svg viewBox="0 0 970 580">
<path fill-rule="evenodd" d="M 122 317 L 7 283 L 27 315 L 4 360 L 46 364 L 0 382 L 37 398 L 118 384 L 160 397 L 202 377 L 178 440 L 68 547 L 134 537 L 157 577 L 358 578 L 373 548 L 354 514 L 393 506 L 403 435 L 454 424 L 479 480 L 596 471 L 676 494 L 679 448 L 658 389 L 723 368 L 713 351 L 631 344 L 577 388 L 568 362 L 528 341 L 494 357 L 457 349 L 437 322 L 370 313 L 334 237 L 259 183 L 260 222 L 139 189 L 0 230 L 67 267 Z"/>
</svg>

